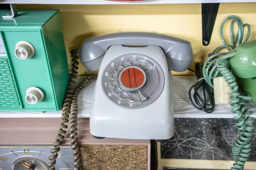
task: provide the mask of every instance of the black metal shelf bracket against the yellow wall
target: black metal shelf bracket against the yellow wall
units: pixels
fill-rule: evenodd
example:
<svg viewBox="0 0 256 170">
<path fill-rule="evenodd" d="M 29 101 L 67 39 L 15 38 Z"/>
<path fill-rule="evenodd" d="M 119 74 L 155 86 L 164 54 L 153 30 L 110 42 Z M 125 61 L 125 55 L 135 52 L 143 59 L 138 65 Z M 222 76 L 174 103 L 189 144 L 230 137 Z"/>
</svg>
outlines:
<svg viewBox="0 0 256 170">
<path fill-rule="evenodd" d="M 203 45 L 209 45 L 220 3 L 202 3 Z"/>
</svg>

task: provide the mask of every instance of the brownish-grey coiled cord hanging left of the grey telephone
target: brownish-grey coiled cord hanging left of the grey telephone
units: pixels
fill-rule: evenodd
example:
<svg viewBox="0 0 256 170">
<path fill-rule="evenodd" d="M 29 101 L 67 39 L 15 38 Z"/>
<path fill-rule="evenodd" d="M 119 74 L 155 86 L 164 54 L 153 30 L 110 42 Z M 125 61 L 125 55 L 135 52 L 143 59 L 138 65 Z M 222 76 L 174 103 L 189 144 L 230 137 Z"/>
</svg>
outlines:
<svg viewBox="0 0 256 170">
<path fill-rule="evenodd" d="M 53 143 L 53 149 L 51 150 L 52 155 L 49 156 L 49 162 L 47 165 L 49 167 L 49 170 L 55 170 L 55 163 L 56 158 L 58 156 L 58 151 L 60 151 L 60 145 L 63 144 L 64 135 L 66 133 L 67 124 L 69 122 L 69 114 L 70 114 L 70 138 L 71 138 L 71 148 L 73 151 L 73 161 L 74 161 L 74 167 L 73 170 L 82 170 L 81 166 L 81 155 L 80 155 L 80 149 L 79 149 L 79 142 L 77 137 L 77 111 L 78 111 L 78 105 L 77 105 L 77 98 L 80 93 L 80 91 L 87 86 L 88 82 L 90 82 L 91 77 L 86 77 L 83 79 L 83 81 L 75 88 L 76 82 L 74 79 L 76 79 L 77 70 L 78 70 L 78 64 L 77 61 L 77 50 L 71 50 L 71 57 L 72 57 L 72 69 L 70 74 L 70 79 L 67 85 L 67 91 L 64 97 L 63 102 L 63 108 L 61 113 L 61 125 L 59 127 L 57 137 L 55 138 L 55 142 Z"/>
</svg>

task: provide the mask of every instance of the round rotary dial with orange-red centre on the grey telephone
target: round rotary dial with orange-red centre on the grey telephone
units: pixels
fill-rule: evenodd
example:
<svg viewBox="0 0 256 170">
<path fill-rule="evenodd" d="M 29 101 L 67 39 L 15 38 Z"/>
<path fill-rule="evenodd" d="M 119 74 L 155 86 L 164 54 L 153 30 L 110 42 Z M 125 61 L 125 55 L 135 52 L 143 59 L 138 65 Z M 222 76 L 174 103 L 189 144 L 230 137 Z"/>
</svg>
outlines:
<svg viewBox="0 0 256 170">
<path fill-rule="evenodd" d="M 102 89 L 115 105 L 138 109 L 153 103 L 162 93 L 165 79 L 160 65 L 142 54 L 113 59 L 102 74 Z"/>
</svg>

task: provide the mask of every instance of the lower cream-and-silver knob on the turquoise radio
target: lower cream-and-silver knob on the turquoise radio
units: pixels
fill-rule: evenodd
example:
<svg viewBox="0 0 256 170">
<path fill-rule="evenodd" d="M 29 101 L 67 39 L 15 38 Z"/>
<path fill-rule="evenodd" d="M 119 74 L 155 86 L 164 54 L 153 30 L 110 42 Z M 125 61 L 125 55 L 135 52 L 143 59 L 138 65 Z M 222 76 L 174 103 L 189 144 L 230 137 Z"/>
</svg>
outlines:
<svg viewBox="0 0 256 170">
<path fill-rule="evenodd" d="M 31 105 L 35 105 L 37 102 L 40 102 L 44 99 L 44 93 L 40 88 L 30 87 L 26 90 L 25 100 Z"/>
</svg>

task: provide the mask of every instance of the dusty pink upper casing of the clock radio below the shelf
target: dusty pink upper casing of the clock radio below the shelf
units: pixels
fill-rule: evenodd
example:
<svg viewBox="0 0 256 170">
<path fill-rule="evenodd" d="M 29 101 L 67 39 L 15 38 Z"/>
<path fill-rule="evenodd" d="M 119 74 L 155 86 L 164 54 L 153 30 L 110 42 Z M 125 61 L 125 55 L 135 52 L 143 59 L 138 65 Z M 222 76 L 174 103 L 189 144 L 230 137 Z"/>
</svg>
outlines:
<svg viewBox="0 0 256 170">
<path fill-rule="evenodd" d="M 95 139 L 90 134 L 88 118 L 79 118 L 77 123 L 80 144 L 150 144 L 150 140 Z M 0 145 L 52 145 L 59 125 L 60 118 L 1 118 Z M 70 144 L 69 128 L 64 136 L 63 144 Z"/>
</svg>

